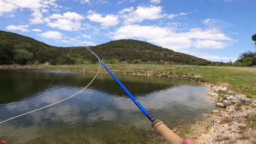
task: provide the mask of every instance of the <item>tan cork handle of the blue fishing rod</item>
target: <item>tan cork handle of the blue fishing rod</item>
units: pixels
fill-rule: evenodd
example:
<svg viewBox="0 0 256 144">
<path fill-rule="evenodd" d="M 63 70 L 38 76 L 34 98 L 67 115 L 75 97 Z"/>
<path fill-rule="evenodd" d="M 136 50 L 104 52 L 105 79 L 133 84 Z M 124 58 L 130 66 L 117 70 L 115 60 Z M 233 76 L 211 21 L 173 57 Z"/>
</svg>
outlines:
<svg viewBox="0 0 256 144">
<path fill-rule="evenodd" d="M 160 119 L 156 119 L 151 126 L 170 144 L 183 144 L 183 139 L 170 130 Z"/>
</svg>

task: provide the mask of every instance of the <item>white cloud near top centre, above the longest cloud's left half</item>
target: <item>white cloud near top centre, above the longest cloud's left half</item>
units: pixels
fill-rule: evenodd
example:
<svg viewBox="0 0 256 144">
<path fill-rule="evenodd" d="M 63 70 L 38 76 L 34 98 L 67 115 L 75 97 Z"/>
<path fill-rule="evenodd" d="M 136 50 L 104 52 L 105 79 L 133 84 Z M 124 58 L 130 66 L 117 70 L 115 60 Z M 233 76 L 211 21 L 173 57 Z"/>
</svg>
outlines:
<svg viewBox="0 0 256 144">
<path fill-rule="evenodd" d="M 152 5 L 149 7 L 138 6 L 135 11 L 133 11 L 133 7 L 130 7 L 122 10 L 121 13 L 126 13 L 121 16 L 126 24 L 141 22 L 143 20 L 161 19 L 167 16 L 166 14 L 162 14 L 161 6 Z"/>
</svg>

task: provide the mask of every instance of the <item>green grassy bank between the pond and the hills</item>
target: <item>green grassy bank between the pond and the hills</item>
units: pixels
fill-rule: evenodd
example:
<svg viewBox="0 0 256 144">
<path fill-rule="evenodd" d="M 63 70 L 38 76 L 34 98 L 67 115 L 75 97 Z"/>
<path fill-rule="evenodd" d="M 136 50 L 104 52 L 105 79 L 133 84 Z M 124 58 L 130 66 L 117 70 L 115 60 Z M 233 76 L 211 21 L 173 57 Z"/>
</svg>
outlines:
<svg viewBox="0 0 256 144">
<path fill-rule="evenodd" d="M 245 94 L 249 98 L 256 98 L 256 68 L 255 67 L 211 67 L 211 66 L 177 66 L 177 65 L 132 65 L 112 64 L 108 67 L 114 73 L 142 74 L 150 76 L 166 76 L 185 78 L 198 82 L 212 84 L 227 84 L 228 91 Z M 0 69 L 54 69 L 63 71 L 95 72 L 99 65 L 65 65 L 65 66 L 5 66 Z M 102 67 L 102 73 L 107 71 Z M 226 91 L 226 92 L 228 92 Z M 226 94 L 223 92 L 223 94 Z"/>
</svg>

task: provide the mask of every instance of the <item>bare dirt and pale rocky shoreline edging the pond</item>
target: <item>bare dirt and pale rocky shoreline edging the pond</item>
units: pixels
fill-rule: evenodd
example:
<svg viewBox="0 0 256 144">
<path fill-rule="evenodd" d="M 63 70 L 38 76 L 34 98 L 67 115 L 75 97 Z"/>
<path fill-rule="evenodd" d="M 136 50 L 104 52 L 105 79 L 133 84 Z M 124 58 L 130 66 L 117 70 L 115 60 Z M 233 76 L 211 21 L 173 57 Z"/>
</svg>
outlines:
<svg viewBox="0 0 256 144">
<path fill-rule="evenodd" d="M 0 66 L 0 69 L 44 69 L 43 66 L 19 66 L 19 65 L 5 65 Z M 101 71 L 101 73 L 106 73 Z M 122 73 L 132 75 L 146 75 L 157 77 L 170 77 L 181 78 L 188 81 L 186 76 L 171 76 L 168 74 L 154 75 L 151 73 Z M 234 94 L 234 91 L 227 89 L 228 84 L 213 85 L 207 82 L 197 82 L 211 89 L 208 94 L 209 97 L 215 102 L 217 110 L 209 111 L 209 114 L 205 115 L 204 121 L 198 121 L 190 126 L 189 133 L 185 134 L 186 138 L 193 139 L 197 143 L 256 143 L 256 102 L 245 102 L 248 99 L 243 94 Z M 225 95 L 226 98 L 238 98 L 239 100 L 233 100 L 229 105 L 222 106 L 223 100 L 222 92 L 227 91 L 230 95 Z M 228 100 L 226 100 L 228 102 Z M 231 100 L 232 101 L 232 100 Z M 225 104 L 225 103 L 224 103 Z M 248 120 L 252 117 L 252 120 Z"/>
</svg>

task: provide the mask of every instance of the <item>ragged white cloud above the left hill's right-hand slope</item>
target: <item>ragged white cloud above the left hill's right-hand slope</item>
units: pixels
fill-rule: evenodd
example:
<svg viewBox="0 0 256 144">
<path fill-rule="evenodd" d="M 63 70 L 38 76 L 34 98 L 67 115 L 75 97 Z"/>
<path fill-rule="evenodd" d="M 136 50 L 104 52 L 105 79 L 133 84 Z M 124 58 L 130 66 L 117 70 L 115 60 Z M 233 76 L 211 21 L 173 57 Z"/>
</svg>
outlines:
<svg viewBox="0 0 256 144">
<path fill-rule="evenodd" d="M 56 19 L 50 22 L 50 19 Z M 44 19 L 47 21 L 47 25 L 52 28 L 58 28 L 67 31 L 76 31 L 81 29 L 81 20 L 83 20 L 83 15 L 76 12 L 66 12 L 63 14 L 52 14 L 49 18 Z"/>
</svg>

